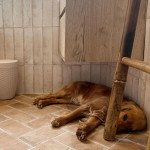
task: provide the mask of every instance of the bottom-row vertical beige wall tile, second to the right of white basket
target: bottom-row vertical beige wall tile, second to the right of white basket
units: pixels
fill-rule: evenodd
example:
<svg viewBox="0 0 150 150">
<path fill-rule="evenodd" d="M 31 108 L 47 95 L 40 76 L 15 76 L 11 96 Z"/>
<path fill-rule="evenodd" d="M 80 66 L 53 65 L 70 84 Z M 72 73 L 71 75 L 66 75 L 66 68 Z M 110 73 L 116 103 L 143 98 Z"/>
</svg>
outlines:
<svg viewBox="0 0 150 150">
<path fill-rule="evenodd" d="M 25 65 L 25 93 L 33 93 L 33 65 Z"/>
</svg>

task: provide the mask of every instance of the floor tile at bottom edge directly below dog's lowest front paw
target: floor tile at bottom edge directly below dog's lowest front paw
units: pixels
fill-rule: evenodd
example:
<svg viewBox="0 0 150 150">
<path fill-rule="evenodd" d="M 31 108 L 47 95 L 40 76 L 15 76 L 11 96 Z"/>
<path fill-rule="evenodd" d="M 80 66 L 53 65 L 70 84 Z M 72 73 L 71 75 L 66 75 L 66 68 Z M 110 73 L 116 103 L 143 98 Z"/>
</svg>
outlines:
<svg viewBox="0 0 150 150">
<path fill-rule="evenodd" d="M 75 134 L 69 132 L 61 134 L 54 139 L 76 150 L 107 150 L 106 147 L 88 140 L 84 143 L 80 142 Z"/>
</svg>

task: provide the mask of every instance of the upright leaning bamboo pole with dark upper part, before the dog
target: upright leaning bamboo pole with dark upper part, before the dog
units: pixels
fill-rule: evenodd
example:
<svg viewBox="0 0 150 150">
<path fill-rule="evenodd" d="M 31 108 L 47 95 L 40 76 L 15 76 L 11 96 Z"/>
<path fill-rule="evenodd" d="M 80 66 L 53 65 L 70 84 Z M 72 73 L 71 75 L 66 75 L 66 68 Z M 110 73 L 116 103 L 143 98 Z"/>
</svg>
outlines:
<svg viewBox="0 0 150 150">
<path fill-rule="evenodd" d="M 123 92 L 127 80 L 128 66 L 121 63 L 123 57 L 131 57 L 141 0 L 129 0 L 120 54 L 106 117 L 104 139 L 115 140 L 117 121 L 121 109 Z"/>
</svg>

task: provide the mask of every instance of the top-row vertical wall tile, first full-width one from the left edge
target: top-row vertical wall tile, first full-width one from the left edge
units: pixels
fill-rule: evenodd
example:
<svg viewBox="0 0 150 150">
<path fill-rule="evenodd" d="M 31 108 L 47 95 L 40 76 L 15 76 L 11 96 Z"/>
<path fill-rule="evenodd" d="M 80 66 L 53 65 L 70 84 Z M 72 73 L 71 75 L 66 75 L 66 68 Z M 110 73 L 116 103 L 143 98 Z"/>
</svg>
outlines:
<svg viewBox="0 0 150 150">
<path fill-rule="evenodd" d="M 13 10 L 13 1 L 3 0 L 4 27 L 13 27 L 12 10 Z"/>
</svg>

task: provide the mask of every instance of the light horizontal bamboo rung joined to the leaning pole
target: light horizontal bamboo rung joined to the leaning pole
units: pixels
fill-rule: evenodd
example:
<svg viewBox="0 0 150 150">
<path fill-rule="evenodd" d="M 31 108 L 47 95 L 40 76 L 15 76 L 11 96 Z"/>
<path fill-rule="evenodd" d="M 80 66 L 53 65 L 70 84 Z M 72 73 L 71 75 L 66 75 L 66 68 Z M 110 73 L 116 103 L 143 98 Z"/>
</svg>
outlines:
<svg viewBox="0 0 150 150">
<path fill-rule="evenodd" d="M 136 59 L 127 58 L 127 57 L 123 57 L 121 63 L 150 74 L 150 64 L 149 63 L 146 63 L 146 62 L 143 62 L 140 60 L 136 60 Z"/>
</svg>

